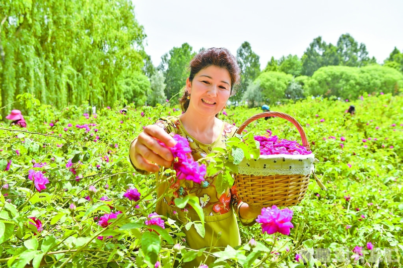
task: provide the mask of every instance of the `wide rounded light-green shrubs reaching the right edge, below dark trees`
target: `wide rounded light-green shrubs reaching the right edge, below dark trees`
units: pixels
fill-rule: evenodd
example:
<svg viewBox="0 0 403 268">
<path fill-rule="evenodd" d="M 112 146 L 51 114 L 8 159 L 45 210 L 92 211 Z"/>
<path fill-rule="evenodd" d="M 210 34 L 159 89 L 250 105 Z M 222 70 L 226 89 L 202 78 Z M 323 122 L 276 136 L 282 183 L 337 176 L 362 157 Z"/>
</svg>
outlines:
<svg viewBox="0 0 403 268">
<path fill-rule="evenodd" d="M 326 66 L 315 71 L 304 90 L 314 96 L 356 99 L 365 92 L 397 94 L 402 87 L 403 75 L 390 67 Z"/>
</svg>

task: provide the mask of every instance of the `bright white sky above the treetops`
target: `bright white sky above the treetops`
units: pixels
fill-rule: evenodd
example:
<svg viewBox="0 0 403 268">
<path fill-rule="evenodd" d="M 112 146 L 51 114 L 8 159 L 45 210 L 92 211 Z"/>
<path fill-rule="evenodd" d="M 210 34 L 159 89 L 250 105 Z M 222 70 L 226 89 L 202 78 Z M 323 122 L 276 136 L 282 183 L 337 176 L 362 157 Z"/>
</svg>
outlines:
<svg viewBox="0 0 403 268">
<path fill-rule="evenodd" d="M 403 50 L 403 1 L 306 0 L 132 0 L 147 34 L 146 52 L 153 64 L 172 47 L 187 42 L 236 50 L 248 41 L 264 68 L 272 56 L 302 56 L 318 36 L 336 44 L 350 33 L 382 63 L 396 46 Z"/>
</svg>

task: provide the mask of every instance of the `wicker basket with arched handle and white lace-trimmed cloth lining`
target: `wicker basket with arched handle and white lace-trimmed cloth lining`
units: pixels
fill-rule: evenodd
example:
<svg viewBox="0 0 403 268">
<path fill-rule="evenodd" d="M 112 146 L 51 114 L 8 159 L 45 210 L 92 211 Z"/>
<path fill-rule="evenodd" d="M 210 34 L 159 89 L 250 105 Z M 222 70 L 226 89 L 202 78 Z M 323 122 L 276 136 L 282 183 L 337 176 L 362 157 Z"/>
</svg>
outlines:
<svg viewBox="0 0 403 268">
<path fill-rule="evenodd" d="M 267 116 L 281 117 L 293 123 L 301 135 L 302 145 L 310 151 L 302 126 L 293 117 L 280 112 L 265 112 L 252 116 L 240 126 L 237 133 L 241 134 L 248 124 Z M 260 155 L 259 159 L 250 160 L 244 158 L 238 164 L 239 173 L 235 174 L 238 194 L 242 201 L 252 206 L 294 206 L 304 198 L 308 189 L 314 160 L 313 154 Z M 277 168 L 271 168 L 273 165 Z M 282 165 L 282 168 L 278 168 L 279 165 Z"/>
</svg>

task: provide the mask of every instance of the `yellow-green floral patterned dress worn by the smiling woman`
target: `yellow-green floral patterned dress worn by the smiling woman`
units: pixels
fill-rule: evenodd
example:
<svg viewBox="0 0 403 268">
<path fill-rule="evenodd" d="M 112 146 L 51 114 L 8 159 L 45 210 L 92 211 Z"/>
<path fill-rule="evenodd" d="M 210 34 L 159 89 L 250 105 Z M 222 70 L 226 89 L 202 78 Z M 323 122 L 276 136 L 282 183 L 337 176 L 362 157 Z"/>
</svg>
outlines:
<svg viewBox="0 0 403 268">
<path fill-rule="evenodd" d="M 169 134 L 179 134 L 187 138 L 192 150 L 191 153 L 188 153 L 187 157 L 193 158 L 195 161 L 214 152 L 214 148 L 216 147 L 224 148 L 227 138 L 232 137 L 237 130 L 235 126 L 224 122 L 222 134 L 213 143 L 204 144 L 186 132 L 178 116 L 160 118 L 155 125 L 163 128 Z M 137 170 L 141 172 L 141 170 Z M 159 180 L 160 172 L 156 174 L 156 177 Z M 175 182 L 171 182 L 171 184 L 161 184 L 161 187 L 158 189 L 158 197 L 163 195 L 167 189 L 167 192 L 172 194 L 172 197 L 164 197 L 157 203 L 157 214 L 176 219 L 173 215 L 173 212 L 176 211 L 178 213 L 177 219 L 181 223 L 186 223 L 184 209 L 176 207 L 174 199 L 189 195 L 195 196 L 199 200 L 199 205 L 203 208 L 205 214 L 206 234 L 204 238 L 201 237 L 194 225 L 189 230 L 183 228 L 183 232 L 186 234 L 186 243 L 190 248 L 199 249 L 210 247 L 211 245 L 215 247 L 226 247 L 227 245 L 235 247 L 241 244 L 239 227 L 235 217 L 235 214 L 239 215 L 238 209 L 241 200 L 238 198 L 235 187 L 232 187 L 231 191 L 228 189 L 224 194 L 219 195 L 215 188 L 215 180 L 216 176 L 205 177 L 205 181 L 201 182 L 201 184 L 187 180 L 176 180 Z M 186 209 L 188 210 L 188 218 L 192 221 L 199 220 L 193 208 L 187 205 Z M 243 220 L 240 217 L 239 219 L 243 225 L 254 223 L 254 219 Z M 193 267 L 193 265 L 197 267 L 200 260 L 204 261 L 205 258 L 205 256 L 201 256 L 192 262 L 186 262 L 185 267 Z M 206 264 L 211 261 L 214 261 L 214 259 L 210 258 Z"/>
</svg>

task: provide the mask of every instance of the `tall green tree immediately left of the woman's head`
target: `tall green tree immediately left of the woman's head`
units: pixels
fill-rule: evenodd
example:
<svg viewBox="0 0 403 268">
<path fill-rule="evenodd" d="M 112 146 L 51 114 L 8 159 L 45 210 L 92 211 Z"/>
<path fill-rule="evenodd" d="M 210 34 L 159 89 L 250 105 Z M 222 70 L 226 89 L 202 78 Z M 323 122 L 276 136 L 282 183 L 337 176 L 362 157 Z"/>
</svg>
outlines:
<svg viewBox="0 0 403 268">
<path fill-rule="evenodd" d="M 186 77 L 189 75 L 187 66 L 194 57 L 195 52 L 188 43 L 183 43 L 180 47 L 172 48 L 161 57 L 159 70 L 165 76 L 165 94 L 168 99 L 180 92 L 185 85 Z"/>
</svg>

